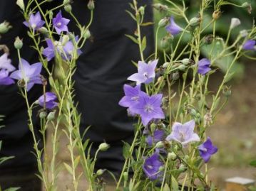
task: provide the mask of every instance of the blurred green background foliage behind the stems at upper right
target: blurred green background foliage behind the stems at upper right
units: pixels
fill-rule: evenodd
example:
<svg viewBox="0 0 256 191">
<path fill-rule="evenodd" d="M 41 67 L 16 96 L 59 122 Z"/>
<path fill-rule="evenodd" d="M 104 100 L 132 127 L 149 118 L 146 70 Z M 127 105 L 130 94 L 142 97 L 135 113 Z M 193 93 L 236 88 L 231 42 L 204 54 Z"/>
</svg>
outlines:
<svg viewBox="0 0 256 191">
<path fill-rule="evenodd" d="M 176 4 L 181 4 L 182 1 L 180 0 L 173 0 L 173 2 L 175 2 Z M 185 12 L 188 19 L 193 18 L 198 16 L 198 7 L 200 6 L 200 2 L 198 0 L 185 0 L 185 4 L 188 7 L 188 10 Z M 213 1 L 214 2 L 214 1 Z M 217 0 L 216 0 L 217 2 Z M 230 42 L 234 41 L 235 38 L 237 37 L 237 35 L 239 34 L 240 31 L 244 30 L 244 29 L 250 29 L 252 28 L 252 24 L 253 24 L 253 20 L 252 20 L 252 16 L 256 15 L 256 1 L 254 0 L 229 0 L 228 2 L 232 3 L 232 4 L 237 4 L 237 5 L 242 5 L 245 2 L 248 2 L 250 4 L 252 4 L 252 11 L 251 13 L 248 12 L 248 10 L 246 8 L 241 8 L 241 7 L 236 7 L 236 6 L 232 6 L 232 5 L 225 5 L 222 6 L 222 9 L 220 10 L 221 16 L 220 18 L 217 19 L 216 22 L 216 36 L 220 37 L 220 38 L 226 38 L 227 37 L 227 33 L 228 33 L 228 29 L 230 26 L 230 21 L 231 18 L 239 18 L 241 21 L 241 25 L 237 26 L 236 28 L 234 28 L 234 30 L 232 30 L 231 36 L 230 36 Z M 154 3 L 160 3 L 160 4 L 165 4 L 168 6 L 171 6 L 170 4 L 168 4 L 167 1 L 165 0 L 154 0 Z M 212 15 L 214 12 L 214 8 L 213 8 L 213 3 L 212 6 L 210 7 L 210 9 L 208 9 L 208 11 L 206 11 L 204 13 L 203 16 L 203 26 L 206 26 L 208 23 L 210 23 L 210 21 L 212 20 Z M 160 13 L 159 11 L 154 11 L 155 13 L 155 26 L 157 26 L 158 21 L 160 21 L 161 18 L 165 17 L 165 16 L 170 16 L 170 13 Z M 185 21 L 183 18 L 179 18 L 178 16 L 175 16 L 175 22 L 178 23 L 179 26 L 183 26 L 183 28 L 185 27 Z M 210 25 L 210 27 L 208 27 L 204 33 L 203 36 L 208 36 L 211 34 L 211 31 L 213 31 L 213 24 Z M 163 38 L 163 36 L 165 36 L 167 34 L 167 32 L 165 31 L 165 28 L 160 28 L 160 31 L 158 33 L 158 47 L 159 50 L 160 49 L 160 39 Z M 180 50 L 182 50 L 185 45 L 186 42 L 188 41 L 188 39 L 190 38 L 190 34 L 186 34 L 185 37 L 183 38 L 183 45 L 181 46 Z M 173 41 L 174 46 L 175 43 L 177 43 L 174 39 Z M 214 45 L 214 51 L 212 55 L 208 55 L 208 53 L 210 53 L 210 49 L 212 48 L 212 45 L 204 45 L 201 48 L 201 53 L 203 57 L 214 57 L 215 54 L 217 54 L 217 52 L 220 52 L 220 45 L 218 46 L 217 44 Z M 227 70 L 228 64 L 230 62 L 230 60 L 232 60 L 233 55 L 227 56 L 225 58 L 222 58 L 220 60 L 217 60 L 215 62 L 215 65 L 217 67 L 220 68 L 220 70 L 222 70 L 222 72 L 225 72 Z M 235 65 L 232 67 L 232 72 L 234 72 L 233 77 L 235 77 L 236 79 L 238 78 L 242 78 L 243 73 L 244 73 L 244 65 L 241 65 L 239 62 L 236 62 Z"/>
</svg>

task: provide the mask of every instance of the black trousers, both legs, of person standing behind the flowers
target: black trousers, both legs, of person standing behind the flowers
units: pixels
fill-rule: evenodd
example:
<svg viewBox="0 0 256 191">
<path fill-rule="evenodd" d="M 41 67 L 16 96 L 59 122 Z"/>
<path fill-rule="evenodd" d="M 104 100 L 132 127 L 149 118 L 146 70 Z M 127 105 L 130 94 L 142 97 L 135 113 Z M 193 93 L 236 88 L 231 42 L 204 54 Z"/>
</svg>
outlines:
<svg viewBox="0 0 256 191">
<path fill-rule="evenodd" d="M 126 109 L 118 106 L 123 97 L 123 84 L 126 78 L 136 71 L 131 60 L 140 60 L 138 45 L 129 40 L 125 34 L 132 34 L 136 29 L 135 21 L 126 13 L 130 9 L 129 0 L 98 0 L 93 16 L 90 42 L 83 48 L 83 54 L 77 62 L 78 69 L 73 77 L 75 80 L 76 101 L 81 112 L 81 132 L 89 125 L 91 128 L 85 138 L 93 142 L 92 154 L 98 144 L 106 141 L 111 145 L 107 152 L 98 155 L 96 168 L 108 168 L 118 175 L 123 167 L 123 141 L 133 139 L 133 119 L 128 118 Z M 150 0 L 139 2 L 148 4 L 145 21 L 152 21 Z M 88 23 L 89 11 L 87 1 L 73 2 L 73 13 L 82 24 Z M 8 13 L 6 13 L 8 10 Z M 64 14 L 64 11 L 63 11 Z M 66 15 L 68 17 L 68 15 Z M 36 53 L 30 48 L 31 40 L 26 35 L 26 27 L 22 25 L 23 17 L 16 6 L 16 0 L 0 1 L 0 22 L 8 20 L 14 28 L 4 35 L 0 44 L 5 43 L 11 49 L 11 59 L 17 67 L 16 50 L 13 48 L 14 38 L 24 38 L 24 48 L 21 57 L 29 62 L 38 62 Z M 68 24 L 69 31 L 78 34 L 75 22 Z M 143 35 L 147 36 L 148 48 L 145 55 L 153 53 L 153 26 L 143 28 Z M 34 86 L 29 92 L 29 99 L 34 101 L 42 93 L 40 85 Z M 18 94 L 16 85 L 0 87 L 0 114 L 5 115 L 5 127 L 0 129 L 0 140 L 3 147 L 0 157 L 14 155 L 15 158 L 0 165 L 0 185 L 3 178 L 11 169 L 36 166 L 36 158 L 31 153 L 34 150 L 31 132 L 27 126 L 26 106 L 23 98 Z M 37 122 L 34 116 L 34 122 Z M 36 169 L 36 168 L 34 168 Z M 13 172 L 14 172 L 13 171 Z M 31 172 L 31 170 L 28 170 Z M 33 170 L 32 170 L 33 171 Z M 21 170 L 22 172 L 22 170 Z M 23 172 L 24 173 L 24 172 Z M 22 173 L 21 173 L 22 174 Z M 11 186 L 17 186 L 14 183 Z M 4 182 L 3 186 L 10 186 Z"/>
</svg>

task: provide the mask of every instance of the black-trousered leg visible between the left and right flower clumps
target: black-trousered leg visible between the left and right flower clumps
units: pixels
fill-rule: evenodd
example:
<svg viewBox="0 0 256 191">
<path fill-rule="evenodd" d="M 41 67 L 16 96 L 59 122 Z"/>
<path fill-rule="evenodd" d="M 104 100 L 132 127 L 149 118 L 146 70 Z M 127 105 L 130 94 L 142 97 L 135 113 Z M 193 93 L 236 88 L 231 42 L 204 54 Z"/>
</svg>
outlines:
<svg viewBox="0 0 256 191">
<path fill-rule="evenodd" d="M 74 77 L 76 100 L 81 112 L 81 131 L 91 125 L 86 138 L 93 143 L 92 153 L 98 144 L 106 141 L 111 145 L 106 152 L 98 155 L 96 168 L 107 168 L 120 175 L 123 168 L 123 143 L 133 140 L 133 119 L 127 116 L 126 109 L 118 106 L 123 97 L 123 84 L 129 75 L 136 71 L 131 60 L 140 60 L 138 45 L 125 34 L 133 34 L 136 23 L 126 13 L 130 10 L 128 0 L 98 0 L 91 26 L 91 42 L 83 48 Z M 152 1 L 147 4 L 145 22 L 153 20 Z M 72 4 L 81 23 L 89 18 L 85 13 L 87 1 L 77 0 Z M 74 24 L 74 23 L 73 23 Z M 74 26 L 69 26 L 74 28 Z M 143 29 L 147 36 L 145 58 L 153 52 L 153 26 Z"/>
</svg>

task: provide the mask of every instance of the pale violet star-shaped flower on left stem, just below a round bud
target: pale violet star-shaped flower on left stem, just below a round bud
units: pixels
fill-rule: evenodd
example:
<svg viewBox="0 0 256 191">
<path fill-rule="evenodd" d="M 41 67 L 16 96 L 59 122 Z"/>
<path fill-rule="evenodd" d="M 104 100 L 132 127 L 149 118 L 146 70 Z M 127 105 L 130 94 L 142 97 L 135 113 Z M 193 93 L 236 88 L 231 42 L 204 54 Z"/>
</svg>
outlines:
<svg viewBox="0 0 256 191">
<path fill-rule="evenodd" d="M 41 70 L 41 62 L 29 65 L 29 62 L 21 58 L 21 62 L 19 62 L 19 70 L 12 72 L 10 77 L 16 80 L 23 80 L 26 84 L 26 91 L 29 92 L 34 84 L 42 84 L 40 75 Z"/>
</svg>

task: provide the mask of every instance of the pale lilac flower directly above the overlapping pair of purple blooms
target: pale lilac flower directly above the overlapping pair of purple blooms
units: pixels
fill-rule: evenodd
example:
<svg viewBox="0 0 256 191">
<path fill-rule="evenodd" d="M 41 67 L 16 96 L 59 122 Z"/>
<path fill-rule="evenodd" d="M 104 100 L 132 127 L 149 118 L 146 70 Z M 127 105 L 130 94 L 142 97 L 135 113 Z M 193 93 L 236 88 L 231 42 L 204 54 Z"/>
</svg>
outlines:
<svg viewBox="0 0 256 191">
<path fill-rule="evenodd" d="M 148 84 L 155 78 L 155 67 L 158 64 L 158 60 L 153 60 L 152 62 L 138 62 L 138 73 L 130 75 L 128 80 L 135 81 L 136 84 Z"/>
</svg>

